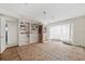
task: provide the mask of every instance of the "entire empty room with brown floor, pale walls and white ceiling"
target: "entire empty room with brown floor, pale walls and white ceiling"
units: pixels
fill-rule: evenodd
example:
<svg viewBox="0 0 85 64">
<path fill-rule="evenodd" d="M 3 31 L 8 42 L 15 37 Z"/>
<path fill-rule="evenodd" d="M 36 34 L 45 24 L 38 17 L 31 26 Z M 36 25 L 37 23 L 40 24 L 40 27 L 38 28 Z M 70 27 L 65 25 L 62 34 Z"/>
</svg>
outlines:
<svg viewBox="0 0 85 64">
<path fill-rule="evenodd" d="M 85 3 L 0 3 L 0 61 L 85 61 Z"/>
</svg>

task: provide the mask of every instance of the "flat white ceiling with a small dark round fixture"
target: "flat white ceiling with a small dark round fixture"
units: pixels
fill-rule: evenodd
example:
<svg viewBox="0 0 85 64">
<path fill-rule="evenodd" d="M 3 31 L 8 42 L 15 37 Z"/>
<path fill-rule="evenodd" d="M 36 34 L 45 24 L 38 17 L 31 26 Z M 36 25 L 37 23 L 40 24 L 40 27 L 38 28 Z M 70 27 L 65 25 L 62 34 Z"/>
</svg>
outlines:
<svg viewBox="0 0 85 64">
<path fill-rule="evenodd" d="M 0 9 L 44 24 L 85 15 L 84 3 L 0 3 Z"/>
</svg>

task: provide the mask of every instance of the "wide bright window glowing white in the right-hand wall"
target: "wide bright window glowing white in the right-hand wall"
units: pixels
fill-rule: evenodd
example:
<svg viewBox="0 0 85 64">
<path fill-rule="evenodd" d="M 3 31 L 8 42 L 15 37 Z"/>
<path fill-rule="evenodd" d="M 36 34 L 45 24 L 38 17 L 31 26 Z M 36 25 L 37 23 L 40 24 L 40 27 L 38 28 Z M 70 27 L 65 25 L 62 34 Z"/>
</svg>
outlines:
<svg viewBox="0 0 85 64">
<path fill-rule="evenodd" d="M 49 29 L 49 39 L 69 41 L 70 24 L 53 26 Z"/>
</svg>

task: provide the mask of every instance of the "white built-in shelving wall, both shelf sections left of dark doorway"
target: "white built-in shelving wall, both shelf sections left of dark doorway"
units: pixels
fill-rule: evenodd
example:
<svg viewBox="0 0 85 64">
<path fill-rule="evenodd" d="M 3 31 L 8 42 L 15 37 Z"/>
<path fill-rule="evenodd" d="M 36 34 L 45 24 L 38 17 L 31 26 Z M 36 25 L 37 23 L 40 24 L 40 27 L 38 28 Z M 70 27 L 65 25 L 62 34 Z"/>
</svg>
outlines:
<svg viewBox="0 0 85 64">
<path fill-rule="evenodd" d="M 39 26 L 38 23 L 20 20 L 18 23 L 19 46 L 39 42 Z"/>
</svg>

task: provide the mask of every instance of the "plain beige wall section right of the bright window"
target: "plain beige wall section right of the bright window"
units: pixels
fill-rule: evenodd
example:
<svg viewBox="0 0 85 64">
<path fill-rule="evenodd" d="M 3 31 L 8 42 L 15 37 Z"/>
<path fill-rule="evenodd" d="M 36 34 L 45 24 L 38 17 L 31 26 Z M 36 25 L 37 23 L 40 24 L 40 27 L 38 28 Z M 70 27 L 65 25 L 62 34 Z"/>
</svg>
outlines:
<svg viewBox="0 0 85 64">
<path fill-rule="evenodd" d="M 73 42 L 76 46 L 85 47 L 85 17 L 76 18 L 73 22 Z"/>
</svg>

